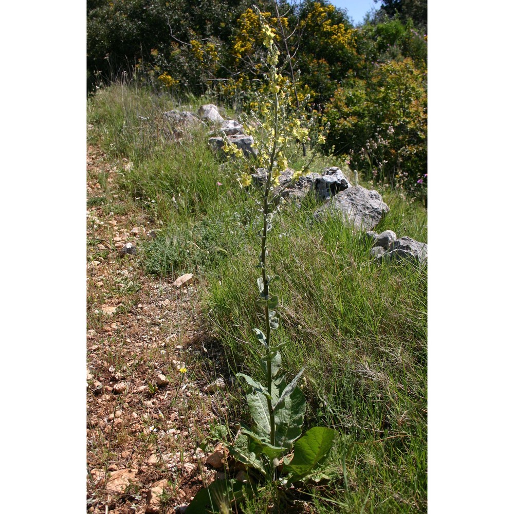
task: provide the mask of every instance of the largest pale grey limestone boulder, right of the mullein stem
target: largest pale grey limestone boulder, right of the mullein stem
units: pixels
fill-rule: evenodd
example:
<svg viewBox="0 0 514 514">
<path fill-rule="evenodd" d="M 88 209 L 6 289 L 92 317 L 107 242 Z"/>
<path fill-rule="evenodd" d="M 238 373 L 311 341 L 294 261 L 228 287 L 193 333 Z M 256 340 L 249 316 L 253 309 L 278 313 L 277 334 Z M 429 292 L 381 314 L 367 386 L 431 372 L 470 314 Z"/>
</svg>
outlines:
<svg viewBox="0 0 514 514">
<path fill-rule="evenodd" d="M 354 186 L 337 193 L 314 213 L 315 219 L 337 215 L 343 224 L 355 230 L 371 230 L 378 225 L 389 207 L 376 191 Z"/>
</svg>

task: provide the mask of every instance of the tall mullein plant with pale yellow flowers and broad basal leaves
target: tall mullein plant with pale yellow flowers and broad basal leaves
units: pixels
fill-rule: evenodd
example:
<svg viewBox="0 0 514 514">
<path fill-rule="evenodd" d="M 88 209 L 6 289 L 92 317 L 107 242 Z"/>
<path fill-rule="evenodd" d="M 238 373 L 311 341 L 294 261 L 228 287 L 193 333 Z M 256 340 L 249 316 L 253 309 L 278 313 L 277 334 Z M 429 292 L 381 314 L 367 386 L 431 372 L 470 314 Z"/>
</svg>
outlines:
<svg viewBox="0 0 514 514">
<path fill-rule="evenodd" d="M 260 276 L 257 279 L 259 299 L 257 304 L 264 309 L 264 330 L 254 328 L 258 341 L 264 347 L 261 365 L 266 376 L 266 384 L 252 379 L 243 373 L 238 374 L 247 386 L 247 402 L 253 419 L 251 427 L 243 429 L 235 443 L 229 447 L 234 456 L 249 467 L 259 470 L 265 476 L 276 478 L 276 467 L 281 458 L 284 464 L 281 481 L 285 484 L 305 478 L 326 457 L 332 446 L 334 432 L 327 428 L 315 427 L 303 437 L 302 426 L 305 414 L 305 398 L 298 386 L 304 371 L 286 382 L 286 375 L 279 373 L 282 357 L 279 349 L 283 344 L 274 344 L 272 331 L 279 326 L 277 317 L 277 295 L 272 295 L 270 285 L 279 277 L 269 273 L 268 233 L 272 229 L 273 216 L 281 206 L 281 190 L 297 180 L 308 169 L 312 157 L 302 170 L 293 171 L 287 183 L 279 180 L 287 168 L 286 150 L 297 142 L 305 143 L 313 127 L 314 120 L 307 121 L 304 102 L 300 109 L 292 108 L 291 86 L 278 70 L 279 50 L 274 43 L 276 34 L 259 12 L 264 45 L 267 48 L 265 67 L 265 88 L 258 99 L 259 111 L 243 116 L 245 132 L 254 139 L 256 155 L 251 159 L 243 157 L 240 149 L 228 140 L 225 150 L 234 156 L 238 169 L 238 180 L 242 187 L 252 183 L 251 174 L 259 172 L 264 184 L 253 196 L 262 214 L 261 245 L 259 253 Z M 328 126 L 318 136 L 316 145 L 325 142 Z M 314 151 L 313 154 L 314 156 Z M 300 439 L 299 439 L 300 438 Z M 293 443 L 294 457 L 288 461 Z M 300 450 L 298 450 L 300 448 Z M 285 477 L 285 478 L 284 478 Z"/>
</svg>

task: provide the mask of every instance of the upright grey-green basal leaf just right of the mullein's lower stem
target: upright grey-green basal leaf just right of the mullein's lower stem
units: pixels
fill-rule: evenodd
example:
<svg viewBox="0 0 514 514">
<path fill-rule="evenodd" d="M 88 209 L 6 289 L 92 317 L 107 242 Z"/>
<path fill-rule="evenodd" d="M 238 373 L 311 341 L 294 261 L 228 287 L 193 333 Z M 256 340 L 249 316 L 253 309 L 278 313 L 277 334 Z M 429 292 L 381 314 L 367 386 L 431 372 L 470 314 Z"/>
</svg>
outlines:
<svg viewBox="0 0 514 514">
<path fill-rule="evenodd" d="M 277 404 L 287 384 L 285 377 L 273 380 L 272 402 Z M 275 410 L 275 446 L 290 448 L 293 441 L 302 435 L 303 416 L 305 414 L 305 397 L 296 387 L 283 399 Z"/>
</svg>

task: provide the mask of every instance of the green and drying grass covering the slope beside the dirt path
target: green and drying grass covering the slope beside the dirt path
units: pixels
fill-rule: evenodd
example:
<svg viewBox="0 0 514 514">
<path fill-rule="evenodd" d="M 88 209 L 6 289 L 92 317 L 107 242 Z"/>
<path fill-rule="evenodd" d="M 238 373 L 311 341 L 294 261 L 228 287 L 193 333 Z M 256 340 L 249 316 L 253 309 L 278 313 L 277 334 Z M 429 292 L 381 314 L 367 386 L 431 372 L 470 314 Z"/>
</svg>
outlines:
<svg viewBox="0 0 514 514">
<path fill-rule="evenodd" d="M 215 332 L 231 372 L 259 378 L 252 333 L 263 325 L 254 304 L 259 251 L 254 206 L 208 150 L 207 127 L 175 141 L 162 122 L 162 112 L 193 111 L 200 103 L 185 107 L 144 90 L 105 88 L 89 100 L 90 137 L 110 158 L 132 163 L 118 168 L 119 185 L 161 227 L 143 248 L 145 272 L 170 278 L 193 272 L 203 286 L 204 323 Z M 313 167 L 333 164 L 321 157 Z M 116 204 L 97 198 L 91 205 L 112 211 Z M 384 200 L 391 211 L 377 232 L 391 229 L 398 237 L 427 242 L 422 206 L 392 193 Z M 274 337 L 287 342 L 283 362 L 291 376 L 306 366 L 307 425 L 338 431 L 331 457 L 335 478 L 302 491 L 303 499 L 322 513 L 424 512 L 426 268 L 375 265 L 364 235 L 336 219 L 313 222 L 315 208 L 313 198 L 300 208 L 287 204 L 269 236 L 270 269 L 281 276 L 273 284 L 281 317 Z M 229 414 L 244 410 L 237 391 L 233 402 Z M 245 511 L 263 512 L 265 497 Z"/>
</svg>

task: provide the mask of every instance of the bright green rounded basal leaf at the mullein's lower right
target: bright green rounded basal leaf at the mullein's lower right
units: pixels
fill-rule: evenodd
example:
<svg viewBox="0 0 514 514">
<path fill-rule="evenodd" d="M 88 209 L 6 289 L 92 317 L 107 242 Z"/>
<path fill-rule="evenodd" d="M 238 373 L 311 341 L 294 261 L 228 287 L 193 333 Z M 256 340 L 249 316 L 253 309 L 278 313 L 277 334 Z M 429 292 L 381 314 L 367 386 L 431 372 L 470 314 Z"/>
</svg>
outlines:
<svg viewBox="0 0 514 514">
<path fill-rule="evenodd" d="M 332 448 L 336 432 L 326 427 L 314 427 L 295 443 L 292 461 L 282 472 L 291 473 L 289 483 L 298 482 L 323 463 Z"/>
</svg>

